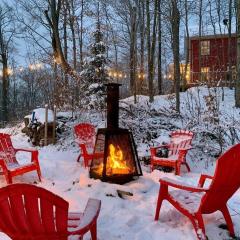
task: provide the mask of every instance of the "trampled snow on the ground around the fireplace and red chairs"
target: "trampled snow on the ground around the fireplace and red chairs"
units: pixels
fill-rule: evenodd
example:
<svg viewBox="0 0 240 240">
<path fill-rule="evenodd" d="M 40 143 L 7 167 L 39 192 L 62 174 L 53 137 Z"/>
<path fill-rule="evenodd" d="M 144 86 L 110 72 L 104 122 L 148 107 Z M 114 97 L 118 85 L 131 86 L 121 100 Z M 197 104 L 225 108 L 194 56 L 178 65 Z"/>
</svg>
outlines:
<svg viewBox="0 0 240 240">
<path fill-rule="evenodd" d="M 229 94 L 229 92 L 227 93 Z M 226 112 L 233 110 L 232 94 L 223 103 Z M 144 104 L 144 97 L 142 104 Z M 154 107 L 166 107 L 164 97 L 157 98 Z M 128 99 L 130 101 L 130 99 Z M 227 102 L 228 101 L 228 102 Z M 227 106 L 226 106 L 227 104 Z M 159 108 L 158 108 L 159 109 Z M 227 113 L 223 116 L 226 116 Z M 238 117 L 239 118 L 239 117 Z M 98 125 L 101 125 L 98 122 Z M 12 140 L 16 147 L 31 147 L 25 134 L 20 133 L 20 127 L 0 129 L 0 132 L 8 132 L 13 135 Z M 162 140 L 157 136 L 159 141 Z M 165 139 L 165 138 L 163 138 Z M 195 141 L 196 143 L 196 141 Z M 145 151 L 146 144 L 139 145 L 139 153 Z M 54 145 L 38 148 L 39 160 L 42 170 L 42 182 L 38 186 L 44 187 L 70 203 L 70 210 L 83 211 L 88 198 L 98 198 L 102 201 L 102 208 L 98 220 L 99 240 L 192 240 L 196 239 L 191 222 L 180 214 L 168 202 L 164 202 L 161 208 L 160 220 L 154 221 L 156 201 L 159 191 L 159 178 L 169 177 L 188 184 L 197 185 L 200 172 L 212 174 L 215 162 L 207 165 L 196 161 L 197 154 L 188 154 L 187 161 L 192 169 L 191 173 L 182 172 L 181 176 L 173 173 L 164 173 L 159 170 L 149 171 L 149 166 L 142 163 L 143 176 L 125 185 L 104 183 L 100 180 L 90 179 L 88 170 L 76 162 L 79 149 L 74 143 L 73 133 Z M 19 153 L 20 162 L 29 158 L 27 153 Z M 199 164 L 198 164 L 199 163 Z M 14 182 L 35 183 L 35 172 L 24 174 L 14 178 Z M 0 186 L 5 186 L 4 178 L 0 177 Z M 122 199 L 117 190 L 133 193 Z M 234 222 L 237 236 L 240 236 L 240 190 L 229 200 L 228 207 Z M 211 240 L 230 239 L 227 230 L 218 226 L 225 223 L 221 213 L 204 216 L 206 233 Z M 0 239 L 9 239 L 0 234 Z M 86 235 L 84 239 L 90 239 Z"/>
</svg>

